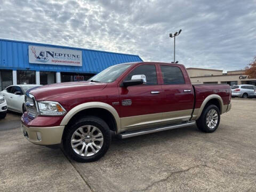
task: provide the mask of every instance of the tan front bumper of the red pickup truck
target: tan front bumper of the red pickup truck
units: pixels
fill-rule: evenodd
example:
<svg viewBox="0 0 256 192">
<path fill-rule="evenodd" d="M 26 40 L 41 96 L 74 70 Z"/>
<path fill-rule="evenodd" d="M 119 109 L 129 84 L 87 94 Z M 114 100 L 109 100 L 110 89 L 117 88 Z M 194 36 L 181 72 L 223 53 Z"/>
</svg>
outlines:
<svg viewBox="0 0 256 192">
<path fill-rule="evenodd" d="M 21 123 L 23 135 L 27 140 L 36 145 L 55 145 L 61 143 L 64 127 L 27 127 Z"/>
</svg>

